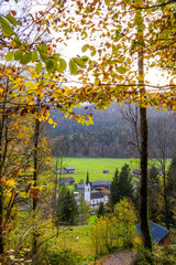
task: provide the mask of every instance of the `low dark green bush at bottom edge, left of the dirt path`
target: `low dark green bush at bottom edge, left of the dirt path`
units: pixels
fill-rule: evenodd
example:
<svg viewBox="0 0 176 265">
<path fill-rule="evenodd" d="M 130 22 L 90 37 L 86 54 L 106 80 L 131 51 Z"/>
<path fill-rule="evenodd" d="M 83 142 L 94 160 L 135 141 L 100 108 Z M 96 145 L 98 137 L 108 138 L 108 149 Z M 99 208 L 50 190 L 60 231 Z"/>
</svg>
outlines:
<svg viewBox="0 0 176 265">
<path fill-rule="evenodd" d="M 80 253 L 67 247 L 63 247 L 58 252 L 51 251 L 46 255 L 47 265 L 78 265 L 82 261 L 84 257 Z"/>
</svg>

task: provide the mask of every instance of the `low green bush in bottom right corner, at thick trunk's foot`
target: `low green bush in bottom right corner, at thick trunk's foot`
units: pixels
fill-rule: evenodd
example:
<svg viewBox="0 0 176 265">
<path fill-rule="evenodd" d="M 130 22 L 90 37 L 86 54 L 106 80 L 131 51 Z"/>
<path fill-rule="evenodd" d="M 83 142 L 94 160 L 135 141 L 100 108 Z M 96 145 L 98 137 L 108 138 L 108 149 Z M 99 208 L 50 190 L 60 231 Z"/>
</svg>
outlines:
<svg viewBox="0 0 176 265">
<path fill-rule="evenodd" d="M 155 246 L 153 252 L 139 247 L 134 265 L 174 265 L 176 264 L 176 250 L 172 246 Z"/>
</svg>

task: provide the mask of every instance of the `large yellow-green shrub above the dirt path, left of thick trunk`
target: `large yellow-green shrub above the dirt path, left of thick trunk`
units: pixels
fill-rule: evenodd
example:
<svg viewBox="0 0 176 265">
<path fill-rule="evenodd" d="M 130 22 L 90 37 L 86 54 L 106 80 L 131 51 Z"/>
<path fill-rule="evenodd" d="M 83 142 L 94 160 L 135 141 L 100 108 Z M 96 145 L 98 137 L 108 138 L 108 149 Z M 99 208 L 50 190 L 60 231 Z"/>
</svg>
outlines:
<svg viewBox="0 0 176 265">
<path fill-rule="evenodd" d="M 135 210 L 125 198 L 116 204 L 114 214 L 98 218 L 92 232 L 96 254 L 101 256 L 119 247 L 131 247 L 136 237 L 135 221 Z"/>
</svg>

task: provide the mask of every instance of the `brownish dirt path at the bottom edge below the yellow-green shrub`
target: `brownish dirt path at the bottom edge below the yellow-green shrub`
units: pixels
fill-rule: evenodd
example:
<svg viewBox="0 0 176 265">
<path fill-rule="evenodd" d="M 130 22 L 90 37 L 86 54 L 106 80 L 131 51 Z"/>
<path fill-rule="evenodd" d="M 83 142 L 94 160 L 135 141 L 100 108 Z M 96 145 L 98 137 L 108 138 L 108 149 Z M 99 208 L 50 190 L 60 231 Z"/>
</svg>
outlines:
<svg viewBox="0 0 176 265">
<path fill-rule="evenodd" d="M 110 254 L 96 262 L 96 265 L 132 265 L 132 252 L 119 252 Z"/>
</svg>

